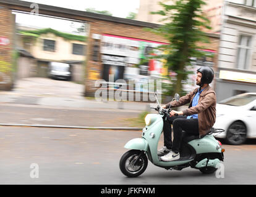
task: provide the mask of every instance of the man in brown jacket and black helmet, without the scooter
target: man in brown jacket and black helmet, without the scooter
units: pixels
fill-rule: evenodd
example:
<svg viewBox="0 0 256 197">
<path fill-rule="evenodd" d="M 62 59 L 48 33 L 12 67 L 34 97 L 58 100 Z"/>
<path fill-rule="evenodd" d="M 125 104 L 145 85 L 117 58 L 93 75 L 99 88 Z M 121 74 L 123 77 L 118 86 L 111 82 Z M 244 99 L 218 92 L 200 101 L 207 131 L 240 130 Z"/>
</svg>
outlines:
<svg viewBox="0 0 256 197">
<path fill-rule="evenodd" d="M 183 111 L 172 110 L 164 121 L 164 147 L 158 150 L 162 161 L 174 161 L 180 158 L 182 131 L 186 134 L 206 135 L 216 119 L 216 94 L 209 86 L 214 77 L 214 71 L 203 66 L 197 69 L 196 84 L 200 86 L 189 94 L 164 105 L 163 108 L 180 107 L 190 103 Z M 175 115 L 175 116 L 174 116 Z M 173 124 L 173 142 L 171 140 L 171 124 Z"/>
</svg>

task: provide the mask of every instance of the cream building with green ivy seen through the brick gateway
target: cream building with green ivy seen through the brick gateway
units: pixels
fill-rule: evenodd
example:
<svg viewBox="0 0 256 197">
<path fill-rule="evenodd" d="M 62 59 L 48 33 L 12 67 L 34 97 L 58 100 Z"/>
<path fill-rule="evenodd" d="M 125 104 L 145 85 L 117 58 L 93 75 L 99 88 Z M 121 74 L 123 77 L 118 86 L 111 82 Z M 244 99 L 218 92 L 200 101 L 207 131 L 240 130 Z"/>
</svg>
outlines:
<svg viewBox="0 0 256 197">
<path fill-rule="evenodd" d="M 19 58 L 17 78 L 31 76 L 47 78 L 49 62 L 62 62 L 71 66 L 72 81 L 83 82 L 84 54 L 87 49 L 85 36 L 63 33 L 51 28 L 36 29 L 22 25 L 16 25 L 16 28 L 16 48 L 19 51 L 25 50 L 36 59 L 35 68 L 22 63 L 23 58 Z M 32 70 L 36 70 L 36 74 Z"/>
</svg>

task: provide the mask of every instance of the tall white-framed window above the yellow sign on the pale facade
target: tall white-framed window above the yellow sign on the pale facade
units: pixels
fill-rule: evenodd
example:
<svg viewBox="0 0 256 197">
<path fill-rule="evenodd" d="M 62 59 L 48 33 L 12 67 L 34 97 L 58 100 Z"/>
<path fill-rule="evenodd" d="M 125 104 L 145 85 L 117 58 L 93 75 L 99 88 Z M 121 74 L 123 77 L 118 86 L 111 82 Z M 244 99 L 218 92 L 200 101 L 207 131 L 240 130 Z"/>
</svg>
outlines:
<svg viewBox="0 0 256 197">
<path fill-rule="evenodd" d="M 252 36 L 239 36 L 237 48 L 237 68 L 249 70 L 249 63 L 252 58 Z"/>
</svg>

